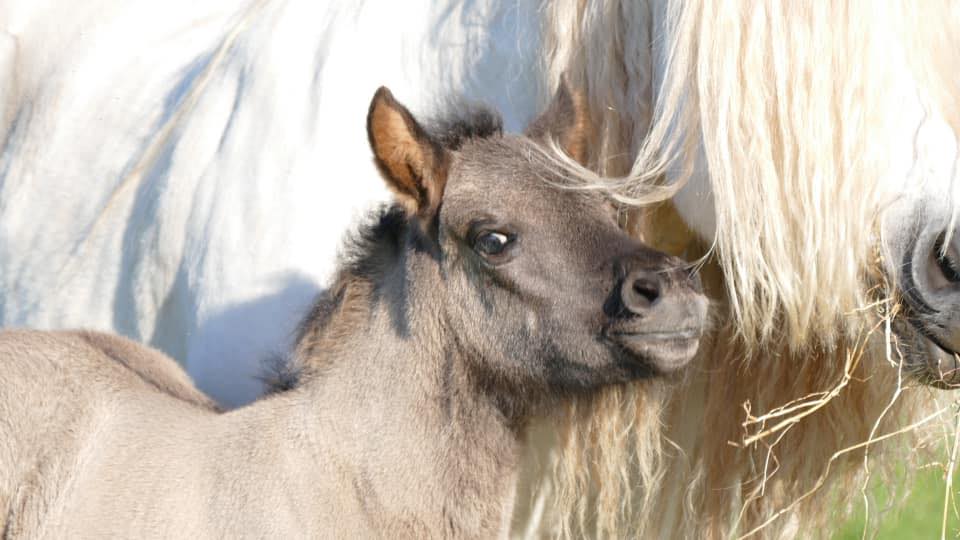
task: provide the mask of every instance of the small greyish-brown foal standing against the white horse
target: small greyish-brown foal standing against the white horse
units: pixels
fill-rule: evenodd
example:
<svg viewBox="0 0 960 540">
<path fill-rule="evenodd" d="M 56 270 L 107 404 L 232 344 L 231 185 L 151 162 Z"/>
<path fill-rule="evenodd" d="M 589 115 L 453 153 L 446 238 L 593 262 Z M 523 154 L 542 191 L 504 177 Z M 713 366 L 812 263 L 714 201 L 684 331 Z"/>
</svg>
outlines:
<svg viewBox="0 0 960 540">
<path fill-rule="evenodd" d="M 503 537 L 528 420 L 673 371 L 706 302 L 536 146 L 582 149 L 561 85 L 527 130 L 428 130 L 381 89 L 396 192 L 302 324 L 288 389 L 220 413 L 162 355 L 0 334 L 0 530 L 39 537 Z M 334 179 L 331 179 L 333 181 Z M 6 536 L 4 536 L 6 537 Z"/>
</svg>

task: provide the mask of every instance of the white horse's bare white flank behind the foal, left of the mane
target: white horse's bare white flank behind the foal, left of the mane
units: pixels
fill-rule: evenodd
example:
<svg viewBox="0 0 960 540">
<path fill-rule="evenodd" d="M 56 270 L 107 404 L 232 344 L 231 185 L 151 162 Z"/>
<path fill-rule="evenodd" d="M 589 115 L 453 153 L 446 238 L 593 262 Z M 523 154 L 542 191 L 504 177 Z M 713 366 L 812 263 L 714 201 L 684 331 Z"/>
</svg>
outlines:
<svg viewBox="0 0 960 540">
<path fill-rule="evenodd" d="M 7 2 L 0 325 L 120 332 L 252 400 L 385 197 L 374 90 L 536 110 L 533 6 L 500 4 Z"/>
</svg>

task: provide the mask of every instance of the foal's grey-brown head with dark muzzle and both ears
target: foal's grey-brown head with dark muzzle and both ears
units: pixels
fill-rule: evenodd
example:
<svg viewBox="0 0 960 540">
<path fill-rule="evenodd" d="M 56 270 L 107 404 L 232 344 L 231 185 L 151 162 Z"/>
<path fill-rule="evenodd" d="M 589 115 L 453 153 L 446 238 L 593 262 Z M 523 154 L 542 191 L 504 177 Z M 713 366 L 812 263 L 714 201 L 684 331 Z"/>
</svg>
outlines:
<svg viewBox="0 0 960 540">
<path fill-rule="evenodd" d="M 686 263 L 626 235 L 598 193 L 540 145 L 574 157 L 585 112 L 564 84 L 524 136 L 472 111 L 427 129 L 381 88 L 367 129 L 407 220 L 406 246 L 428 254 L 429 289 L 447 340 L 490 384 L 583 391 L 674 371 L 694 355 L 706 300 Z"/>
</svg>

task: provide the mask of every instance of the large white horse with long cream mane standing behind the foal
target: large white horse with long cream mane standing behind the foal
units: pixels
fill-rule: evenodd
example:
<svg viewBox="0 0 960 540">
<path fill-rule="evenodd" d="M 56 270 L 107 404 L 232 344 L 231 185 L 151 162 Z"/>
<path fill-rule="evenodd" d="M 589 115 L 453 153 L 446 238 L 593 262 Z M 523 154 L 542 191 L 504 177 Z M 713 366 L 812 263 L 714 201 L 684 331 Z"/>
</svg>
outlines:
<svg viewBox="0 0 960 540">
<path fill-rule="evenodd" d="M 901 371 L 955 382 L 960 25 L 946 2 L 56 4 L 0 6 L 0 324 L 119 331 L 217 399 L 249 401 L 340 234 L 383 196 L 364 96 L 386 83 L 420 113 L 480 98 L 517 129 L 567 72 L 592 108 L 588 165 L 624 180 L 584 176 L 628 203 L 683 184 L 630 225 L 709 251 L 727 322 L 680 391 L 614 393 L 584 415 L 593 435 L 571 430 L 574 451 L 544 473 L 559 508 L 610 529 L 636 490 L 660 534 L 795 531 L 829 509 L 812 495 L 824 479 L 861 470 L 864 451 L 837 452 L 925 418 L 928 393 L 902 392 Z M 611 480 L 626 452 L 612 434 L 638 418 L 639 488 Z M 591 515 L 569 488 L 597 454 L 610 481 L 592 484 Z"/>
</svg>

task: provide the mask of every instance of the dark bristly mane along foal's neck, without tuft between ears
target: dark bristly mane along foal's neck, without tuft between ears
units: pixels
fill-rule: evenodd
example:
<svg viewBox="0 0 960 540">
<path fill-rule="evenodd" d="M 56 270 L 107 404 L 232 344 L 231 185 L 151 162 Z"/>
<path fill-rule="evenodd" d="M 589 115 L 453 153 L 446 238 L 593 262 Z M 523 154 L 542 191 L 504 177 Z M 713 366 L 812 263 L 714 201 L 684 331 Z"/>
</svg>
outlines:
<svg viewBox="0 0 960 540">
<path fill-rule="evenodd" d="M 300 322 L 295 343 L 316 334 L 330 322 L 330 317 L 344 301 L 350 283 L 377 283 L 390 269 L 404 249 L 404 235 L 410 228 L 406 211 L 397 204 L 383 205 L 370 212 L 359 227 L 348 233 L 340 248 L 336 275 L 330 286 L 314 301 L 309 313 Z M 268 393 L 284 392 L 298 386 L 304 371 L 299 347 L 286 355 L 276 355 L 264 362 L 262 377 Z"/>
</svg>

